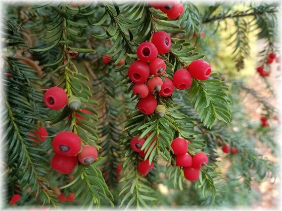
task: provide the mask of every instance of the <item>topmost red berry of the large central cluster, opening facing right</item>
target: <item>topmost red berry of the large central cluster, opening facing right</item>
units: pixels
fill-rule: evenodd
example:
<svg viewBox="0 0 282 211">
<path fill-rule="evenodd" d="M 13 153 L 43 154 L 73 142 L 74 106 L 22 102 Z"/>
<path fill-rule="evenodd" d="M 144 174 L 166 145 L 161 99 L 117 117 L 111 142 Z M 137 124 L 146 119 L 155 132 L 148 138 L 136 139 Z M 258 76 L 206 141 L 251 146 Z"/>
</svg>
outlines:
<svg viewBox="0 0 282 211">
<path fill-rule="evenodd" d="M 155 34 L 153 34 L 151 41 L 158 49 L 159 54 L 165 54 L 169 52 L 171 48 L 170 35 L 167 34 L 166 32 L 163 31 L 156 32 Z"/>
</svg>

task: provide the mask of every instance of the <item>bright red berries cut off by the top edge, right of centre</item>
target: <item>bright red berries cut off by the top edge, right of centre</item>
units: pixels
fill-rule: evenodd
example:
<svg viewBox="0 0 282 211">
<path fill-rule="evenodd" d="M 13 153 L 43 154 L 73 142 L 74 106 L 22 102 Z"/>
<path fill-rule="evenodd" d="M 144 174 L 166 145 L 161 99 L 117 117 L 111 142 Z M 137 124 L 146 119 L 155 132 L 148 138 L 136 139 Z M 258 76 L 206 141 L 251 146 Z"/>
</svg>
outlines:
<svg viewBox="0 0 282 211">
<path fill-rule="evenodd" d="M 155 9 L 166 13 L 169 19 L 176 19 L 184 12 L 183 4 L 175 0 L 165 0 L 164 2 L 149 0 L 148 3 Z"/>
</svg>

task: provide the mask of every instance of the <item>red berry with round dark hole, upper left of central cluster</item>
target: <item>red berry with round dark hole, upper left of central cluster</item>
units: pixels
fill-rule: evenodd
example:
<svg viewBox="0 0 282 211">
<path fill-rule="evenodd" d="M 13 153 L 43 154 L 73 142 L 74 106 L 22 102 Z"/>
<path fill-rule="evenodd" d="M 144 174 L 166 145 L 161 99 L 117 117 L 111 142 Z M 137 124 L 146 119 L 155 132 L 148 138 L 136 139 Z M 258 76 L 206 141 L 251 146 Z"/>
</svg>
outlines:
<svg viewBox="0 0 282 211">
<path fill-rule="evenodd" d="M 136 51 L 138 58 L 143 62 L 152 62 L 158 56 L 156 46 L 151 42 L 142 42 Z"/>
</svg>

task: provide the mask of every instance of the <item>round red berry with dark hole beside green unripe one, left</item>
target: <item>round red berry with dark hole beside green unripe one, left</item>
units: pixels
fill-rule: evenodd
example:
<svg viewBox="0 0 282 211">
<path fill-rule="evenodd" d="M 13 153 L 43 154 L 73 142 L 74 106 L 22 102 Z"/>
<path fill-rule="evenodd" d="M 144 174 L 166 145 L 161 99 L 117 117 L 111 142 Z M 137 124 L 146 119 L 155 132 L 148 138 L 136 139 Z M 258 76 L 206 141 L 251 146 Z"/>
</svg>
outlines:
<svg viewBox="0 0 282 211">
<path fill-rule="evenodd" d="M 67 93 L 60 87 L 51 87 L 44 94 L 44 103 L 52 110 L 63 108 L 67 102 Z"/>
</svg>

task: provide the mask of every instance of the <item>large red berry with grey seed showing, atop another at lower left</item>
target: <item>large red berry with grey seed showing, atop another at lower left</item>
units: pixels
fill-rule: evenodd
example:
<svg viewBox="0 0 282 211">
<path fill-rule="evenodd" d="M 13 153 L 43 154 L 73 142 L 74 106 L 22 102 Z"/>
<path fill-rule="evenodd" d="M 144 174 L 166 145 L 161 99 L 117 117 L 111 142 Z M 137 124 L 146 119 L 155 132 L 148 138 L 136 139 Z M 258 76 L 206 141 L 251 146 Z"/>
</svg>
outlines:
<svg viewBox="0 0 282 211">
<path fill-rule="evenodd" d="M 63 131 L 55 136 L 52 146 L 56 153 L 65 156 L 75 156 L 81 149 L 81 140 L 78 135 L 69 131 Z"/>
</svg>

